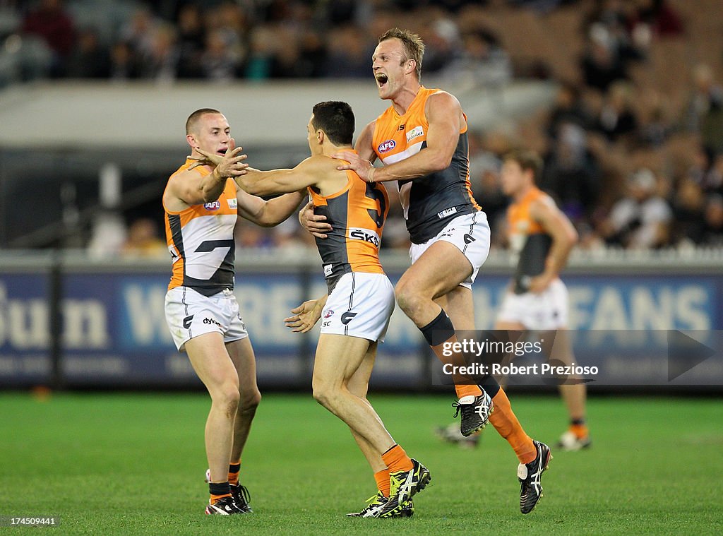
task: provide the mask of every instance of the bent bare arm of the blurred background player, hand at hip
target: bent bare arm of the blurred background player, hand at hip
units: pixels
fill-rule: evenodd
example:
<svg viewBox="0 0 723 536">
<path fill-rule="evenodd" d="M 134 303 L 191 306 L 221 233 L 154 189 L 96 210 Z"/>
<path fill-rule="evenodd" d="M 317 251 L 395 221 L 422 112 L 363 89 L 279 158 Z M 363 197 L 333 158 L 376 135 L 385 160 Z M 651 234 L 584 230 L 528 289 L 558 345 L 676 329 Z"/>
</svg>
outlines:
<svg viewBox="0 0 723 536">
<path fill-rule="evenodd" d="M 578 232 L 550 197 L 545 196 L 531 203 L 530 216 L 552 237 L 544 272 L 532 278 L 529 286 L 530 292 L 542 292 L 565 268 L 570 250 L 578 241 Z"/>
</svg>

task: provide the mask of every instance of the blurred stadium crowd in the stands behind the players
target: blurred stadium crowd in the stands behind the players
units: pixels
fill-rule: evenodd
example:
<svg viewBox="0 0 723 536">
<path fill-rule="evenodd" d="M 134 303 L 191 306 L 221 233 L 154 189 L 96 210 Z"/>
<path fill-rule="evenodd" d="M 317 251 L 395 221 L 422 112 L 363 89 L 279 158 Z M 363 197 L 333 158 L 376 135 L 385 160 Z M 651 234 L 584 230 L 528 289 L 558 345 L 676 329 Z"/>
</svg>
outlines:
<svg viewBox="0 0 723 536">
<path fill-rule="evenodd" d="M 714 2 L 699 4 L 4 0 L 0 86 L 38 77 L 368 79 L 377 35 L 409 27 L 427 44 L 424 73 L 435 80 L 558 83 L 550 109 L 471 132 L 472 187 L 495 246 L 504 245 L 508 203 L 500 157 L 526 145 L 544 156 L 540 184 L 576 225 L 581 247 L 723 247 L 723 28 L 703 9 Z M 393 208 L 384 246 L 407 247 Z M 239 224 L 237 239 L 312 246 L 295 221 L 273 231 Z"/>
</svg>

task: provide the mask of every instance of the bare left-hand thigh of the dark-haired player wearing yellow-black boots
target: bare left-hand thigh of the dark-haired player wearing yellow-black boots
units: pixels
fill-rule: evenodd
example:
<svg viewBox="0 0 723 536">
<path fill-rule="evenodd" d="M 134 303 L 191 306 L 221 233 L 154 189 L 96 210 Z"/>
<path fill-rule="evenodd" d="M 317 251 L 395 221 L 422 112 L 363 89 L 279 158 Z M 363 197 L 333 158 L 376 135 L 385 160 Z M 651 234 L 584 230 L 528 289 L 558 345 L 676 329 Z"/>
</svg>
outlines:
<svg viewBox="0 0 723 536">
<path fill-rule="evenodd" d="M 341 388 L 359 369 L 369 344 L 361 337 L 322 333 L 314 359 L 314 388 Z"/>
</svg>

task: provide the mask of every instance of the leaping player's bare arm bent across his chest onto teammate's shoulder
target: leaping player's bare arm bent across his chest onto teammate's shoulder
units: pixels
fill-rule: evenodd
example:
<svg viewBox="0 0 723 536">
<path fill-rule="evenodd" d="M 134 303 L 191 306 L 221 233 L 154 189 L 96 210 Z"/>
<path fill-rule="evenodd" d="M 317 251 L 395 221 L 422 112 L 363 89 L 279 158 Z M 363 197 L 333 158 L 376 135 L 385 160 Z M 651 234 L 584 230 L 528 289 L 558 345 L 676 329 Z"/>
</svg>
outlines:
<svg viewBox="0 0 723 536">
<path fill-rule="evenodd" d="M 361 154 L 356 156 L 354 153 L 342 151 L 335 154 L 334 158 L 341 158 L 349 163 L 340 165 L 338 169 L 354 169 L 356 174 L 367 182 L 386 182 L 416 179 L 448 168 L 463 126 L 462 108 L 459 101 L 445 91 L 429 97 L 426 106 L 424 113 L 429 122 L 426 148 L 414 156 L 382 168 L 373 167 L 371 162 L 361 158 Z M 369 140 L 369 146 L 371 145 Z"/>
</svg>

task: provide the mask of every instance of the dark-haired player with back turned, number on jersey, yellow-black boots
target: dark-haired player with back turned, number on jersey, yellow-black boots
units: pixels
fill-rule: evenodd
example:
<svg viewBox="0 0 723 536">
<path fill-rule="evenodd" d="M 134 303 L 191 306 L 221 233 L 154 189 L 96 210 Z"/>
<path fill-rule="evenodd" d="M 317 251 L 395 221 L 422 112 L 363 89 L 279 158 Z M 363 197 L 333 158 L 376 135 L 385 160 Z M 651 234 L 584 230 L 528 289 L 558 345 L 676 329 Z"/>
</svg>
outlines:
<svg viewBox="0 0 723 536">
<path fill-rule="evenodd" d="M 352 150 L 354 113 L 347 103 L 318 103 L 307 131 L 312 156 L 294 169 L 249 168 L 239 184 L 254 195 L 307 188 L 315 211 L 333 224 L 327 239 L 317 239 L 329 292 L 294 309 L 286 324 L 304 333 L 324 319 L 314 361 L 314 398 L 348 425 L 374 472 L 377 495 L 348 515 L 411 516 L 411 497 L 427 485 L 429 471 L 395 443 L 366 398 L 377 343 L 384 340 L 394 310 L 394 289 L 379 262 L 387 192 L 381 184 L 361 181 L 354 171 L 339 171 L 338 161 L 330 158 Z"/>
</svg>

